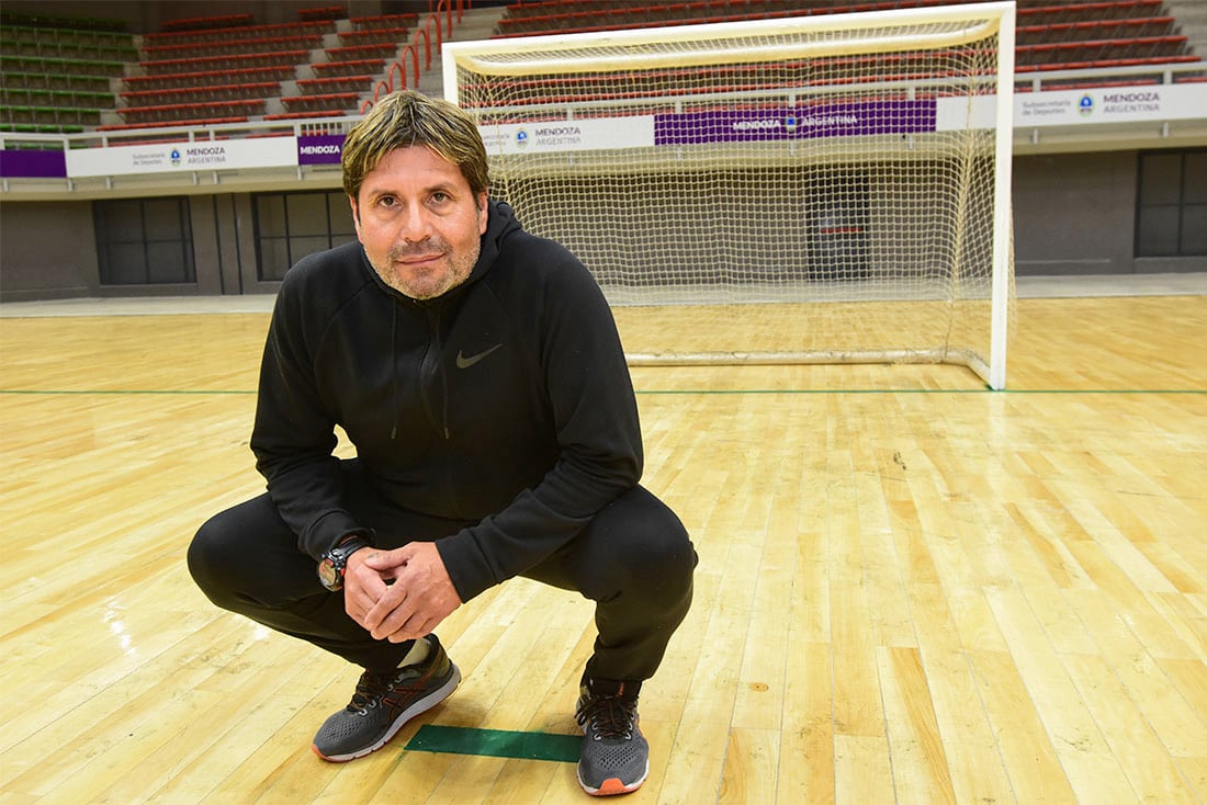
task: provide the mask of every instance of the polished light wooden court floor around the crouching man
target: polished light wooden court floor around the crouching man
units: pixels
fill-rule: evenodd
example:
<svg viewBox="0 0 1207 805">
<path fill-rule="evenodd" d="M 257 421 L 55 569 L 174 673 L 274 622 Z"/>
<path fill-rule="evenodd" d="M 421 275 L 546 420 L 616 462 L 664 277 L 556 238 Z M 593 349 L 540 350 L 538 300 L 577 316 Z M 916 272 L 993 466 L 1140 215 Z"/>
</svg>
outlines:
<svg viewBox="0 0 1207 805">
<path fill-rule="evenodd" d="M 461 607 L 457 693 L 331 765 L 309 741 L 356 671 L 193 587 L 198 524 L 262 489 L 266 325 L 0 319 L 0 801 L 585 801 L 573 764 L 402 747 L 573 733 L 587 602 L 520 579 Z M 1207 801 L 1207 297 L 1021 299 L 1005 392 L 634 378 L 646 483 L 701 562 L 626 801 Z"/>
</svg>

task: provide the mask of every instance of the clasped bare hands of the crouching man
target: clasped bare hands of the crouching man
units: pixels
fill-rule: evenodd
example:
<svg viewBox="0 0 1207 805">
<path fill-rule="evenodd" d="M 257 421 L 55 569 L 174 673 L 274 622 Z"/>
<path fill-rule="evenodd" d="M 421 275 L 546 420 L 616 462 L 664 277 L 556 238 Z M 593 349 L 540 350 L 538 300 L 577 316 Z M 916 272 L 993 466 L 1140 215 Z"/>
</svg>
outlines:
<svg viewBox="0 0 1207 805">
<path fill-rule="evenodd" d="M 395 550 L 361 548 L 344 572 L 344 608 L 375 640 L 401 643 L 430 635 L 461 605 L 431 542 Z"/>
</svg>

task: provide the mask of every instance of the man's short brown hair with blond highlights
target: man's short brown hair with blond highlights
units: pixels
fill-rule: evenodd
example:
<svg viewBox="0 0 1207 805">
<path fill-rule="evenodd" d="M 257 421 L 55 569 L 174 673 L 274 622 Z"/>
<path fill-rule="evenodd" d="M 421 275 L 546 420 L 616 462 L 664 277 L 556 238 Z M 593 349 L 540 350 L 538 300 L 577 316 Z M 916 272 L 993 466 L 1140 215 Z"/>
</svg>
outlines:
<svg viewBox="0 0 1207 805">
<path fill-rule="evenodd" d="M 490 186 L 478 127 L 455 104 L 412 89 L 381 98 L 344 139 L 344 191 L 355 200 L 365 176 L 395 148 L 426 146 L 456 165 L 474 196 Z"/>
</svg>

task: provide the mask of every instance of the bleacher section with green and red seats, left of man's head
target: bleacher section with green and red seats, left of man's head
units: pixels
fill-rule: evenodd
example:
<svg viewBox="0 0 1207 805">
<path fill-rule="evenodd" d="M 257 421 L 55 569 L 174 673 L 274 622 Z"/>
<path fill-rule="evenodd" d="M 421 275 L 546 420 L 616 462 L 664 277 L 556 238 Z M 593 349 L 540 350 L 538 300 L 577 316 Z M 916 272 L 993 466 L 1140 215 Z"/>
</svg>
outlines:
<svg viewBox="0 0 1207 805">
<path fill-rule="evenodd" d="M 98 19 L 5 14 L 0 130 L 355 115 L 418 14 L 348 18 L 343 6 L 257 24 L 247 13 L 168 21 L 135 37 Z"/>
</svg>

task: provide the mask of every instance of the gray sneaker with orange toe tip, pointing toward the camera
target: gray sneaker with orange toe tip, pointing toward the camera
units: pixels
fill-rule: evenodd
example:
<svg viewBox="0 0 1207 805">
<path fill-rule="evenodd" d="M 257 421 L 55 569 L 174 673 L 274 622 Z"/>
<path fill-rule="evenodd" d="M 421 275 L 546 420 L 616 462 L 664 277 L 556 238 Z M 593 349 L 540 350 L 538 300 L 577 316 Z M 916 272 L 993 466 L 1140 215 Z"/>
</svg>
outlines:
<svg viewBox="0 0 1207 805">
<path fill-rule="evenodd" d="M 637 699 L 583 686 L 575 718 L 583 728 L 578 784 L 591 797 L 628 794 L 649 774 L 649 743 L 637 729 Z"/>
</svg>

